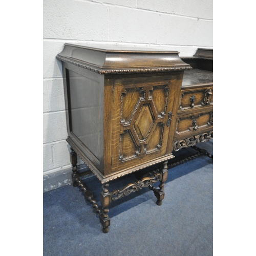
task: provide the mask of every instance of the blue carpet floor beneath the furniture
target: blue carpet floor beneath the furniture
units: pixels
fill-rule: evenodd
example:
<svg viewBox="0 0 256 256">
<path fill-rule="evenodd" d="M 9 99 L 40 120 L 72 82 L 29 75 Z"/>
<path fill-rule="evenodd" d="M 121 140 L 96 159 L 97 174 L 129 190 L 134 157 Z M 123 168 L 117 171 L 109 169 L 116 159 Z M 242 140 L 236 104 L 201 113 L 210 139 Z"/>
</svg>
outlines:
<svg viewBox="0 0 256 256">
<path fill-rule="evenodd" d="M 212 140 L 198 146 L 213 153 Z M 77 187 L 46 192 L 44 256 L 212 255 L 212 175 L 212 159 L 206 156 L 170 168 L 163 204 L 156 204 L 148 188 L 112 202 L 108 233 Z M 134 174 L 111 182 L 109 190 L 130 181 Z M 94 176 L 84 183 L 99 202 L 99 180 Z"/>
</svg>

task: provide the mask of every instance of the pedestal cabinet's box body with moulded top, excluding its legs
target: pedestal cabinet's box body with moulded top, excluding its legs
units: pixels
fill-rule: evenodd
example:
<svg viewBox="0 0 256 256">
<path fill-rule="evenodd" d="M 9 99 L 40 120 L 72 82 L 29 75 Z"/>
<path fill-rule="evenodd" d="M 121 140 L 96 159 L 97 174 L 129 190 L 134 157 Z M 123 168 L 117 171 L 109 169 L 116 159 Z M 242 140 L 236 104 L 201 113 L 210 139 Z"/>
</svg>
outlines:
<svg viewBox="0 0 256 256">
<path fill-rule="evenodd" d="M 68 143 L 102 183 L 173 158 L 183 72 L 176 51 L 65 44 Z"/>
</svg>

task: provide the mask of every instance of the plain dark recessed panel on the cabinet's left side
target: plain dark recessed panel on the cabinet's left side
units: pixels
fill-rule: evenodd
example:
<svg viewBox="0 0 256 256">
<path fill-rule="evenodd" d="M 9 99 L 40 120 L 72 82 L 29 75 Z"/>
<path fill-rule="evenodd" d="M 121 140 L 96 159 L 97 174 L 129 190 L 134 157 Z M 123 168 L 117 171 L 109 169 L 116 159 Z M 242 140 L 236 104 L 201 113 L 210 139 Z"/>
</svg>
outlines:
<svg viewBox="0 0 256 256">
<path fill-rule="evenodd" d="M 99 165 L 102 158 L 102 96 L 98 79 L 66 69 L 69 95 L 70 133 L 92 153 Z"/>
</svg>

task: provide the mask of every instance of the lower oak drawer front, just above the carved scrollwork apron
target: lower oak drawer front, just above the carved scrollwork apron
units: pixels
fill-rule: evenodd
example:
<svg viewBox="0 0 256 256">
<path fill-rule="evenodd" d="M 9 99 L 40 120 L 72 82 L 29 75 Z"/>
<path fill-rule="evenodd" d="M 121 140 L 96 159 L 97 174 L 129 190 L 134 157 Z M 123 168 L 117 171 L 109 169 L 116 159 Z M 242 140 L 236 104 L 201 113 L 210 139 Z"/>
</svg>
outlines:
<svg viewBox="0 0 256 256">
<path fill-rule="evenodd" d="M 213 126 L 213 112 L 201 112 L 177 118 L 175 137 L 187 137 Z"/>
</svg>

